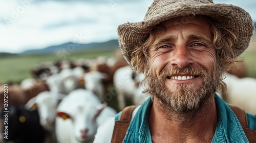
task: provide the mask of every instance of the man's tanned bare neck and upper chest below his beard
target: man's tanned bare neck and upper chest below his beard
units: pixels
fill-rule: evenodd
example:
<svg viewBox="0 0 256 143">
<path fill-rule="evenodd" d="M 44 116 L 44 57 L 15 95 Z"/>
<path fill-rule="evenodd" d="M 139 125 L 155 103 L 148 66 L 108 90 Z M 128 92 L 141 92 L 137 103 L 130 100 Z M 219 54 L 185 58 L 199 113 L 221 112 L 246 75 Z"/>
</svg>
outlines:
<svg viewBox="0 0 256 143">
<path fill-rule="evenodd" d="M 154 98 L 149 117 L 153 142 L 211 142 L 218 122 L 214 96 L 195 112 L 179 114 L 161 108 Z"/>
</svg>

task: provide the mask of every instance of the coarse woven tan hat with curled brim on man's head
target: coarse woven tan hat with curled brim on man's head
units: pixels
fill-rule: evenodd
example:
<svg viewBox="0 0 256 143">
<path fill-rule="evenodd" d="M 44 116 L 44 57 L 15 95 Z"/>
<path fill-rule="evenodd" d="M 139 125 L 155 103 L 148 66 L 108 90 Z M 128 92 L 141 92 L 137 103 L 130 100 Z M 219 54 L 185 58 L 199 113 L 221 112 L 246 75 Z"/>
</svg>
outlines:
<svg viewBox="0 0 256 143">
<path fill-rule="evenodd" d="M 234 55 L 239 56 L 248 47 L 254 26 L 244 9 L 214 4 L 212 0 L 155 0 L 143 21 L 127 22 L 118 27 L 119 45 L 124 58 L 130 63 L 134 48 L 145 42 L 152 27 L 171 18 L 195 14 L 211 17 L 237 35 L 238 41 L 232 47 Z"/>
</svg>

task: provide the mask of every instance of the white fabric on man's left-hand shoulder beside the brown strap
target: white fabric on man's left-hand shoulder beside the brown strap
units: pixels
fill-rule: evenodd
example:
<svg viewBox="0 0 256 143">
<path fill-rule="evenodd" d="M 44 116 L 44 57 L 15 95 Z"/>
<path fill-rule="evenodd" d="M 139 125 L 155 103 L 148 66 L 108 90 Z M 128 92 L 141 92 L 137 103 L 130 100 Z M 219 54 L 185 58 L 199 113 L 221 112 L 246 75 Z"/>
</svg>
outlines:
<svg viewBox="0 0 256 143">
<path fill-rule="evenodd" d="M 132 119 L 134 118 L 135 114 L 137 113 L 137 111 L 140 107 L 141 107 L 141 105 L 134 109 L 133 114 L 132 114 Z M 118 113 L 117 115 L 120 115 L 120 114 Z M 115 126 L 115 117 L 109 118 L 108 121 L 106 121 L 105 123 L 100 125 L 97 129 L 94 143 L 109 143 L 109 142 L 111 142 L 114 126 Z"/>
</svg>

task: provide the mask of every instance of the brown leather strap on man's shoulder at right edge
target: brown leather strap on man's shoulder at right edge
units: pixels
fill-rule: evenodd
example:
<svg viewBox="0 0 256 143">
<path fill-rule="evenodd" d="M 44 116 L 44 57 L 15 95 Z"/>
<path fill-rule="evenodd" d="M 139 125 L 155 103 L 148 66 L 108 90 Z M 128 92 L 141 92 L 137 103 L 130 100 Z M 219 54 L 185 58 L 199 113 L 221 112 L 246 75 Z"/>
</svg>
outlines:
<svg viewBox="0 0 256 143">
<path fill-rule="evenodd" d="M 256 119 L 255 119 L 255 130 L 251 130 L 248 127 L 247 114 L 244 111 L 244 109 L 236 105 L 229 104 L 229 106 L 233 110 L 234 114 L 236 114 L 249 142 L 256 142 Z"/>
</svg>

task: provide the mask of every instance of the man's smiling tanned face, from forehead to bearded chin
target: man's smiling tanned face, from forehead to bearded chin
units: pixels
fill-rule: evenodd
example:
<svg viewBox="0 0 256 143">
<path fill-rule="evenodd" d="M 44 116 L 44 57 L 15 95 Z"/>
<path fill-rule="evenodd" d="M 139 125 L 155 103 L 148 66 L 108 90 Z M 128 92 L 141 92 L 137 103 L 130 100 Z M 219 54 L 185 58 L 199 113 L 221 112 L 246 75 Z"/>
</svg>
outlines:
<svg viewBox="0 0 256 143">
<path fill-rule="evenodd" d="M 209 23 L 177 17 L 155 31 L 146 78 L 163 106 L 177 113 L 195 110 L 216 91 L 220 70 Z M 218 69 L 217 69 L 218 68 Z"/>
</svg>

